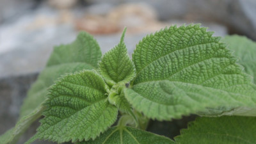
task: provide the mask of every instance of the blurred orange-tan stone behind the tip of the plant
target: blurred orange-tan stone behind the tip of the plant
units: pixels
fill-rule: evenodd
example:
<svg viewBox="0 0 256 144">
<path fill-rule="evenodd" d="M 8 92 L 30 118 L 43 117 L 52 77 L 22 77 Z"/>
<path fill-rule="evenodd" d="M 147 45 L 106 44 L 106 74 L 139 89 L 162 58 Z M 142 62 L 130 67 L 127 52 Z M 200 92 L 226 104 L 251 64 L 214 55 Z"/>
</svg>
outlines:
<svg viewBox="0 0 256 144">
<path fill-rule="evenodd" d="M 95 5 L 92 5 L 94 9 L 99 7 L 99 4 Z M 157 20 L 154 8 L 147 3 L 121 4 L 112 10 L 100 11 L 106 13 L 97 15 L 97 11 L 86 11 L 85 16 L 77 20 L 76 28 L 93 34 L 111 34 L 127 27 L 127 33 L 140 34 L 154 32 L 168 25 Z"/>
</svg>

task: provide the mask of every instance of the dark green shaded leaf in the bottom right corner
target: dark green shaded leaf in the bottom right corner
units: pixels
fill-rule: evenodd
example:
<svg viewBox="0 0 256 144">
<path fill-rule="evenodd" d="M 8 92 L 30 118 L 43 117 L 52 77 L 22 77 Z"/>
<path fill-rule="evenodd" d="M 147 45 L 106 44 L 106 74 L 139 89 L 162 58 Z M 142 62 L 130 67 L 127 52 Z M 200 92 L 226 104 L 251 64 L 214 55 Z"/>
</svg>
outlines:
<svg viewBox="0 0 256 144">
<path fill-rule="evenodd" d="M 256 141 L 256 118 L 221 116 L 197 118 L 175 138 L 180 144 L 246 144 Z"/>
</svg>

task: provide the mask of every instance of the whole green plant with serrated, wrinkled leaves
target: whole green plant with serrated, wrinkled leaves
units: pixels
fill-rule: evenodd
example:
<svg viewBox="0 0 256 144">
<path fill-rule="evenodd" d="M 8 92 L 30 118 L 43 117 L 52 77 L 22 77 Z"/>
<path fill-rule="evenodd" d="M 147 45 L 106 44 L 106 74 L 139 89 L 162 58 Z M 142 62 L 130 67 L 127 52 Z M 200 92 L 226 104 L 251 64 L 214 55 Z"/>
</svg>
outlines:
<svg viewBox="0 0 256 144">
<path fill-rule="evenodd" d="M 41 115 L 27 143 L 255 143 L 256 85 L 248 74 L 256 74 L 256 44 L 212 34 L 199 24 L 171 26 L 143 38 L 131 60 L 125 30 L 104 56 L 92 36 L 80 33 L 72 44 L 55 47 L 29 90 L 19 122 L 0 143 L 15 143 Z M 189 114 L 200 117 L 175 141 L 145 131 L 150 118 Z"/>
</svg>

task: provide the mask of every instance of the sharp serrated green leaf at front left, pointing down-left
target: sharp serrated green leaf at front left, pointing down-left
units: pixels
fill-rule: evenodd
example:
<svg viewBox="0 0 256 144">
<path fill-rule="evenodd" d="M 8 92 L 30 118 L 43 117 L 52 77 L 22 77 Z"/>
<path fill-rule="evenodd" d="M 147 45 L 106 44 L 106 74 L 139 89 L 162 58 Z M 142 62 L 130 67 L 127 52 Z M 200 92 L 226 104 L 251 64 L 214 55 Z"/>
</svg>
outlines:
<svg viewBox="0 0 256 144">
<path fill-rule="evenodd" d="M 94 140 L 116 120 L 118 110 L 109 104 L 106 84 L 94 70 L 68 74 L 50 92 L 42 125 L 27 143 L 38 138 L 58 143 Z"/>
</svg>

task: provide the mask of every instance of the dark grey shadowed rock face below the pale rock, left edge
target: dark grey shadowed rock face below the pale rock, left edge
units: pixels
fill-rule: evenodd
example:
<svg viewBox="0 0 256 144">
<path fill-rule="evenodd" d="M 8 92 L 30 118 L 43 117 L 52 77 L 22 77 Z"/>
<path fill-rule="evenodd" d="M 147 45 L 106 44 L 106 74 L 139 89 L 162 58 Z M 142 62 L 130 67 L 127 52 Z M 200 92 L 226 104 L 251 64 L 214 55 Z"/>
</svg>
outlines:
<svg viewBox="0 0 256 144">
<path fill-rule="evenodd" d="M 31 83 L 37 74 L 0 78 L 0 134 L 12 128 L 18 117 L 19 109 Z"/>
</svg>

